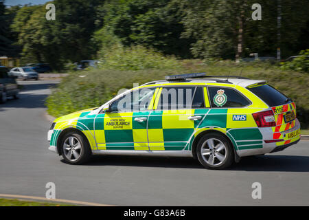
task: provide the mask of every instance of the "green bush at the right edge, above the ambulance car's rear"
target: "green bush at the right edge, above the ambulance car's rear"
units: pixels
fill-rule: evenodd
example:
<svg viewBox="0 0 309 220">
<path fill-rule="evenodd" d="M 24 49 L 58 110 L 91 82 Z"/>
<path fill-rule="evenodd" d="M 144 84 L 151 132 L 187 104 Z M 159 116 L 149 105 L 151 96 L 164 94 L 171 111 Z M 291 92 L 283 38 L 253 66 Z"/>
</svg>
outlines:
<svg viewBox="0 0 309 220">
<path fill-rule="evenodd" d="M 290 62 L 280 63 L 282 69 L 293 69 L 299 72 L 309 72 L 309 49 L 301 50 L 299 57 Z"/>
</svg>

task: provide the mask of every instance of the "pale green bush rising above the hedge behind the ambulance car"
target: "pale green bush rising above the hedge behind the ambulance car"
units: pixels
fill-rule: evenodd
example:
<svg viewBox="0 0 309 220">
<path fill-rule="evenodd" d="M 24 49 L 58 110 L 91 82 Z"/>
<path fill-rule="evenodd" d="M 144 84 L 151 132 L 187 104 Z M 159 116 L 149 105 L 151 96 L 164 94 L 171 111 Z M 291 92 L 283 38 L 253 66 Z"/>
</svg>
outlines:
<svg viewBox="0 0 309 220">
<path fill-rule="evenodd" d="M 103 69 L 139 70 L 139 69 L 177 69 L 179 61 L 174 57 L 166 58 L 163 54 L 142 46 L 124 47 L 115 44 L 102 52 Z"/>
</svg>

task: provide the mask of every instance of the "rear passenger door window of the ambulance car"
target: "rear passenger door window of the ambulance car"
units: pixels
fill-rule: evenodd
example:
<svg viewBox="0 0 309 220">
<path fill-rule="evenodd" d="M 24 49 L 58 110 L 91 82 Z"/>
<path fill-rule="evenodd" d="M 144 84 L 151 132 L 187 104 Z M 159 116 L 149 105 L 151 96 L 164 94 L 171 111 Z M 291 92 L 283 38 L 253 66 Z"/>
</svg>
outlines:
<svg viewBox="0 0 309 220">
<path fill-rule="evenodd" d="M 203 87 L 163 87 L 157 110 L 204 107 Z"/>
</svg>

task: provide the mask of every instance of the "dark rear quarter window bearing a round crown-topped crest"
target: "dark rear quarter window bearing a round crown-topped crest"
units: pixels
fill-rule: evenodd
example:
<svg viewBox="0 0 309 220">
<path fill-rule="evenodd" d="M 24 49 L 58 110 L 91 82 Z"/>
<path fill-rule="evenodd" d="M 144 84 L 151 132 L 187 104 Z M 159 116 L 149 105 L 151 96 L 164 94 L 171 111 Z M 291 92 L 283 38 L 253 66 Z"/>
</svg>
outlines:
<svg viewBox="0 0 309 220">
<path fill-rule="evenodd" d="M 250 104 L 249 100 L 234 89 L 226 87 L 208 87 L 211 107 L 228 108 L 244 107 Z"/>
</svg>

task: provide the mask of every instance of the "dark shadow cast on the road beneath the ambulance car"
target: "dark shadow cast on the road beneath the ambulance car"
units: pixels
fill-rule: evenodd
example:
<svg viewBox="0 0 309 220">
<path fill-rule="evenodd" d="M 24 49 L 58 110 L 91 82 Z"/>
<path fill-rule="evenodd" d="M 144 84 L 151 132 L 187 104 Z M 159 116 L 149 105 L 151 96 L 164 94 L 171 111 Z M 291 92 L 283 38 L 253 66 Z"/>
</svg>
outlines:
<svg viewBox="0 0 309 220">
<path fill-rule="evenodd" d="M 63 162 L 63 161 L 62 161 Z M 145 166 L 168 168 L 201 168 L 191 157 L 146 157 L 135 155 L 95 155 L 85 166 Z M 242 157 L 225 170 L 264 172 L 309 172 L 309 157 L 297 155 L 264 155 Z"/>
</svg>

